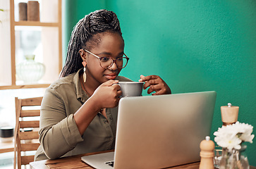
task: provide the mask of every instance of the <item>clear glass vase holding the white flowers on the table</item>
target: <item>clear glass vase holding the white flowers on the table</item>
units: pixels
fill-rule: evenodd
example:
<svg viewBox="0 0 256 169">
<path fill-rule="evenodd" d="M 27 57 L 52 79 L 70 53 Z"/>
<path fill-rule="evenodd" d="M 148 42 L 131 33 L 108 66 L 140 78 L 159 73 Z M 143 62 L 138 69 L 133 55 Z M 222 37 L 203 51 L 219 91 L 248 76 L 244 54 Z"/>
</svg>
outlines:
<svg viewBox="0 0 256 169">
<path fill-rule="evenodd" d="M 246 146 L 242 146 L 241 149 L 228 149 L 222 150 L 221 161 L 219 162 L 220 169 L 249 169 L 250 165 L 248 162 L 247 155 L 245 153 Z"/>
</svg>

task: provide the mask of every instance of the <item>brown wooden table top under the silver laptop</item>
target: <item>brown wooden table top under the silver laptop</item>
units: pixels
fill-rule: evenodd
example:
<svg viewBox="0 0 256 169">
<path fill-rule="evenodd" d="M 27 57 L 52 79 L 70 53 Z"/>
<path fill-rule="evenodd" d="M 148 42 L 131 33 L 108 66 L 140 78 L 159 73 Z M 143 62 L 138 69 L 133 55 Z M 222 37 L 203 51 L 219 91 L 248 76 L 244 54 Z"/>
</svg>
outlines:
<svg viewBox="0 0 256 169">
<path fill-rule="evenodd" d="M 85 169 L 92 169 L 90 165 L 81 161 L 82 156 L 88 156 L 92 154 L 99 154 L 104 152 L 111 152 L 110 151 L 101 151 L 97 153 L 90 153 L 90 154 L 80 154 L 77 156 L 69 156 L 64 158 L 58 158 L 56 160 L 43 160 L 43 161 L 34 161 L 30 163 L 30 168 L 32 169 L 49 169 L 49 168 L 85 168 Z M 179 165 L 176 167 L 171 167 L 171 169 L 178 169 L 178 168 L 185 168 L 185 169 L 198 169 L 200 162 L 197 163 L 190 163 L 186 165 Z M 250 169 L 256 169 L 255 167 L 250 166 Z"/>
</svg>

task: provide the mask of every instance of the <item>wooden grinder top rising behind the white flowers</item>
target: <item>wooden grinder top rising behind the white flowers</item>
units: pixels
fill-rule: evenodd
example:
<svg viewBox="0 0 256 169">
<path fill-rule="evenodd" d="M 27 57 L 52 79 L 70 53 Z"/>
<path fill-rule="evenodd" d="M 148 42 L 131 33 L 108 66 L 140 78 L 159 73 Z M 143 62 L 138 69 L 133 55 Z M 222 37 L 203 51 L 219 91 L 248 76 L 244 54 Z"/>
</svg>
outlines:
<svg viewBox="0 0 256 169">
<path fill-rule="evenodd" d="M 238 106 L 232 106 L 228 103 L 228 106 L 221 106 L 221 120 L 223 125 L 232 125 L 238 120 Z"/>
</svg>

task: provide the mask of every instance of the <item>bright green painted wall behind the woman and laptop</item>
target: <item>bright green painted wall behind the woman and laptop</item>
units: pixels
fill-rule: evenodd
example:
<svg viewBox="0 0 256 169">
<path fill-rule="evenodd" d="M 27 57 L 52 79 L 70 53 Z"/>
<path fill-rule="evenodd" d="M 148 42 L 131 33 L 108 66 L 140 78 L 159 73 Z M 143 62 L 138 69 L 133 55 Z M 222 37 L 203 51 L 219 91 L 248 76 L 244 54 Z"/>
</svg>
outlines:
<svg viewBox="0 0 256 169">
<path fill-rule="evenodd" d="M 173 94 L 216 91 L 212 133 L 222 125 L 220 106 L 228 102 L 240 107 L 240 122 L 256 127 L 255 0 L 76 0 L 72 4 L 65 11 L 67 39 L 87 13 L 112 10 L 121 22 L 130 57 L 121 75 L 135 81 L 141 74 L 159 75 Z M 248 144 L 247 154 L 250 165 L 256 166 L 255 142 Z"/>
</svg>

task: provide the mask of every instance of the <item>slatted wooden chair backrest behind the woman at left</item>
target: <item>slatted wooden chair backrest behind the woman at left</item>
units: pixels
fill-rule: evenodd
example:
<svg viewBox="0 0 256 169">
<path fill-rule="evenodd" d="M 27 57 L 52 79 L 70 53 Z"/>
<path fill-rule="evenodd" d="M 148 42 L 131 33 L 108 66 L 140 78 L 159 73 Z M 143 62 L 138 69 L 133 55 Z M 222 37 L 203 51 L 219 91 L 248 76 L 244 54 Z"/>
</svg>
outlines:
<svg viewBox="0 0 256 169">
<path fill-rule="evenodd" d="M 16 163 L 20 169 L 21 165 L 28 165 L 34 161 L 35 151 L 40 145 L 38 130 L 41 102 L 42 97 L 15 98 L 14 168 Z"/>
</svg>

